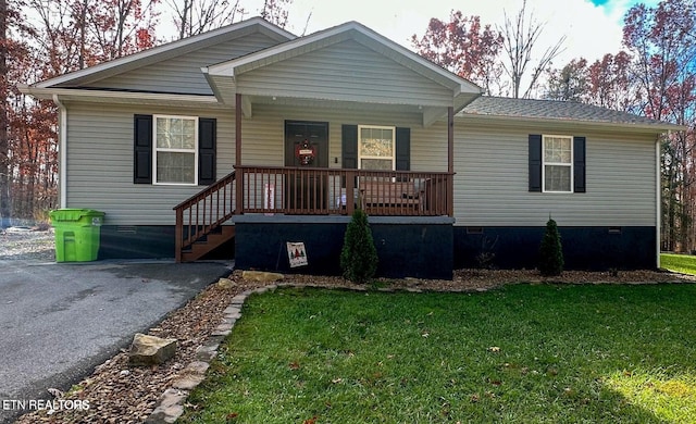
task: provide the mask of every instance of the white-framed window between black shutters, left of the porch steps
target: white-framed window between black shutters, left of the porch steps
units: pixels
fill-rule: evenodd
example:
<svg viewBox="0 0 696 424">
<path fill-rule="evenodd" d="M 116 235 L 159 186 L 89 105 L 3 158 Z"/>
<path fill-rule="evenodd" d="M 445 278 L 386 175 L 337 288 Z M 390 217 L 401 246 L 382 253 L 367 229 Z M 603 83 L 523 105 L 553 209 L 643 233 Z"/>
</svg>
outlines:
<svg viewBox="0 0 696 424">
<path fill-rule="evenodd" d="M 198 119 L 154 115 L 154 184 L 198 184 Z"/>
</svg>

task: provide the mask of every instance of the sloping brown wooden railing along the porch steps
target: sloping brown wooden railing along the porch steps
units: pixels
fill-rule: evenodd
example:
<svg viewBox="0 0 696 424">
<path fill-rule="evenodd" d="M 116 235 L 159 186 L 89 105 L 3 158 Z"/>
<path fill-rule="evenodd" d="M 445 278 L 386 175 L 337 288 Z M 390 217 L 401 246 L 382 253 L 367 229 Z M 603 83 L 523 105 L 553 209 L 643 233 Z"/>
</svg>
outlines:
<svg viewBox="0 0 696 424">
<path fill-rule="evenodd" d="M 176 262 L 197 240 L 229 220 L 235 213 L 235 172 L 208 186 L 176 207 Z"/>
</svg>

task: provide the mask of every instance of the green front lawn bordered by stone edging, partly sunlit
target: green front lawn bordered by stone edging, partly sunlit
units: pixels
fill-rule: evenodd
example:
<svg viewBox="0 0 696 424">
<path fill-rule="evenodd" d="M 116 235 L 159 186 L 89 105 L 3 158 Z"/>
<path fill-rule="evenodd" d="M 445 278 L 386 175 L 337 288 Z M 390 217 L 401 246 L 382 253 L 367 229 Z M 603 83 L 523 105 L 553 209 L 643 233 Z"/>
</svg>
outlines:
<svg viewBox="0 0 696 424">
<path fill-rule="evenodd" d="M 253 295 L 182 422 L 694 422 L 695 301 L 694 285 Z"/>
</svg>

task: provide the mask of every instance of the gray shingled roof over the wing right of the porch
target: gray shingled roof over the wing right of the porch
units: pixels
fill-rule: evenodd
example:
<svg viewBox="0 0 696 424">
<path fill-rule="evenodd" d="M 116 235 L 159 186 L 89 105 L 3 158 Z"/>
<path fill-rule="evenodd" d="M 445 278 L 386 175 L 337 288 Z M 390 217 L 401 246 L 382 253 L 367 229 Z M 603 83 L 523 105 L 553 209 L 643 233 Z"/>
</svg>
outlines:
<svg viewBox="0 0 696 424">
<path fill-rule="evenodd" d="M 483 96 L 468 104 L 460 116 L 484 120 L 572 122 L 636 129 L 683 130 L 685 127 L 627 112 L 574 101 L 512 99 Z"/>
</svg>

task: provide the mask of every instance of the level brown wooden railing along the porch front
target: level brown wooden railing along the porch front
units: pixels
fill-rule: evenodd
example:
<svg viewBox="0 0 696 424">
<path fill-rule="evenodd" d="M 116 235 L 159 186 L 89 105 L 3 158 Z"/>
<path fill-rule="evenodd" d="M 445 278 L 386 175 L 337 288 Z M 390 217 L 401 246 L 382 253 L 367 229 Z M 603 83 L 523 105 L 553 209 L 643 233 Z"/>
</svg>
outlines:
<svg viewBox="0 0 696 424">
<path fill-rule="evenodd" d="M 451 216 L 453 174 L 327 167 L 235 166 L 236 213 Z"/>
</svg>

